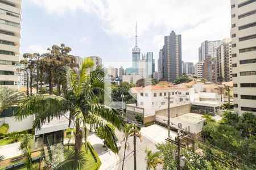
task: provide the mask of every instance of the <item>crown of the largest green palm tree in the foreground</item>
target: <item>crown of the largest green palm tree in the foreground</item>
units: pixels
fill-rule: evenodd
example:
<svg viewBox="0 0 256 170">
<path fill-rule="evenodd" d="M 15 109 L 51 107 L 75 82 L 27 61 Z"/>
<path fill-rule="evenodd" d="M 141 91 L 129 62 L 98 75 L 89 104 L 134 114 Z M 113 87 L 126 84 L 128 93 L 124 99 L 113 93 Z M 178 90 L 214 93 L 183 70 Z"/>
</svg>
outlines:
<svg viewBox="0 0 256 170">
<path fill-rule="evenodd" d="M 64 96 L 33 95 L 26 99 L 15 110 L 17 120 L 22 120 L 30 114 L 37 113 L 33 128 L 40 128 L 53 117 L 63 116 L 69 112 L 69 125 L 75 124 L 75 153 L 82 147 L 82 138 L 87 148 L 88 128 L 86 124 L 96 124 L 102 131 L 115 141 L 115 134 L 109 129 L 108 123 L 121 130 L 125 121 L 121 111 L 104 105 L 104 71 L 96 69 L 88 75 L 88 69 L 93 67 L 90 59 L 85 59 L 79 73 L 68 66 L 63 67 Z M 103 97 L 104 96 L 104 97 Z M 115 143 L 115 142 L 114 142 Z M 117 147 L 117 143 L 115 143 Z"/>
</svg>

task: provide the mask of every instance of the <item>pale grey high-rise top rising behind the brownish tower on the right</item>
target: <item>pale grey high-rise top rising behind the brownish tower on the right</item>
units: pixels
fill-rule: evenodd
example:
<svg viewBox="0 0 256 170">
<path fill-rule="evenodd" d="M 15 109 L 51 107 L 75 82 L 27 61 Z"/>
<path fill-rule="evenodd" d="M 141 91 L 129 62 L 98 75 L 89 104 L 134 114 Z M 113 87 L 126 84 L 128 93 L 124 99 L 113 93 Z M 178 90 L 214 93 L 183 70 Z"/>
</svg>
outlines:
<svg viewBox="0 0 256 170">
<path fill-rule="evenodd" d="M 221 41 L 204 41 L 199 47 L 199 61 L 202 61 L 206 58 L 216 58 L 217 48 L 220 46 Z"/>
</svg>

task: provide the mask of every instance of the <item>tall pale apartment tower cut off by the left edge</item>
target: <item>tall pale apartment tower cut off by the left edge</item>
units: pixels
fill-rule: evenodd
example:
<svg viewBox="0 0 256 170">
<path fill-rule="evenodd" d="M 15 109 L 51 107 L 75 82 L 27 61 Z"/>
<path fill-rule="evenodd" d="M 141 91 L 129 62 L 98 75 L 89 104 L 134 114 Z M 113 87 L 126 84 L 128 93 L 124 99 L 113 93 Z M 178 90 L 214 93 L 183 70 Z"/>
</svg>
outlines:
<svg viewBox="0 0 256 170">
<path fill-rule="evenodd" d="M 21 1 L 0 1 L 0 86 L 18 89 Z"/>
</svg>

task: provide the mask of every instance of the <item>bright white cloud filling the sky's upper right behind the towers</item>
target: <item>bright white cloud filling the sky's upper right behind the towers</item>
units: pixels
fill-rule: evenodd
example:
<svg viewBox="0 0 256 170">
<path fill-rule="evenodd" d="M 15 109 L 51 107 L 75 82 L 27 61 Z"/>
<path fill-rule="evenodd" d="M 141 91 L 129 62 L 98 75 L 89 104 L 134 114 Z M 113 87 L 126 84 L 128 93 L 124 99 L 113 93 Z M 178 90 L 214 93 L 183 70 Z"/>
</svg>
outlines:
<svg viewBox="0 0 256 170">
<path fill-rule="evenodd" d="M 230 1 L 223 0 L 31 0 L 49 13 L 75 14 L 77 9 L 92 12 L 102 20 L 102 29 L 109 35 L 125 37 L 134 44 L 135 21 L 138 23 L 141 49 L 158 57 L 163 36 L 171 30 L 182 35 L 184 61 L 196 61 L 197 49 L 204 40 L 221 40 L 229 37 Z M 153 31 L 153 32 L 152 32 Z"/>
</svg>

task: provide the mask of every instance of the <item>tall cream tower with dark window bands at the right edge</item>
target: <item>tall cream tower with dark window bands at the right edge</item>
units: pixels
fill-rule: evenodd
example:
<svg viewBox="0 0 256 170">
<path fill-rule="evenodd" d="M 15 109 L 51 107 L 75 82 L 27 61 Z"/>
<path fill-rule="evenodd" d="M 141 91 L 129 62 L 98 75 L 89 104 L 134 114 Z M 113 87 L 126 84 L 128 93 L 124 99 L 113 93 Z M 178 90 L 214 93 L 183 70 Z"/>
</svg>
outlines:
<svg viewBox="0 0 256 170">
<path fill-rule="evenodd" d="M 231 0 L 234 112 L 256 114 L 256 1 Z"/>
</svg>

